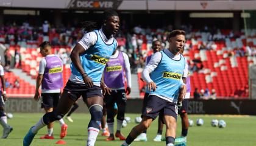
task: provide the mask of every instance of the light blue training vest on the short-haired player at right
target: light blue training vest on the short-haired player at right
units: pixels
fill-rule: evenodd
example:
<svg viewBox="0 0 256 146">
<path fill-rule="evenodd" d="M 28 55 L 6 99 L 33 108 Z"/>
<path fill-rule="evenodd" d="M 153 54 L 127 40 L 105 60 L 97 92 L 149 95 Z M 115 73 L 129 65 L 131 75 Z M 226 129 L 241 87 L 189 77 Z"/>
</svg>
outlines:
<svg viewBox="0 0 256 146">
<path fill-rule="evenodd" d="M 162 60 L 157 68 L 151 72 L 151 79 L 157 85 L 155 91 L 149 92 L 149 95 L 155 95 L 170 102 L 177 103 L 180 86 L 182 82 L 182 74 L 185 69 L 185 58 L 180 54 L 180 60 L 172 60 L 162 53 Z"/>
</svg>

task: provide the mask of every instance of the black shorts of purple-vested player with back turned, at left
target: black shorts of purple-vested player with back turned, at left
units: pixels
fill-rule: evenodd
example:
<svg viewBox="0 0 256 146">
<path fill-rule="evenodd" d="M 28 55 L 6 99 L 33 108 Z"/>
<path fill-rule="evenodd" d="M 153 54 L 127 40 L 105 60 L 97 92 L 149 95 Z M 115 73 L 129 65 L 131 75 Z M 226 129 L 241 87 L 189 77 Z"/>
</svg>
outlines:
<svg viewBox="0 0 256 146">
<path fill-rule="evenodd" d="M 55 108 L 60 99 L 60 93 L 42 93 L 41 108 Z"/>
</svg>

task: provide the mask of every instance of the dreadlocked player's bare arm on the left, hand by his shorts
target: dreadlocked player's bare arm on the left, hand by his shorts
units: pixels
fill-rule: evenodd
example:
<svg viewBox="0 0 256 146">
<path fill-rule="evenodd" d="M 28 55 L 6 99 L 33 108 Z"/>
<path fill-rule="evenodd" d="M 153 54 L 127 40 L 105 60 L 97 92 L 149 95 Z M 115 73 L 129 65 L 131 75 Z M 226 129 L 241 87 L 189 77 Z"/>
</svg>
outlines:
<svg viewBox="0 0 256 146">
<path fill-rule="evenodd" d="M 85 86 L 88 87 L 93 87 L 93 81 L 91 80 L 90 77 L 88 77 L 87 73 L 85 72 L 81 60 L 80 60 L 80 55 L 85 53 L 85 49 L 84 47 L 82 47 L 82 45 L 77 44 L 74 49 L 72 50 L 71 54 L 70 54 L 70 58 L 72 63 L 74 64 L 74 66 L 76 67 L 77 71 L 80 72 L 80 74 L 82 75 L 82 78 L 84 80 Z"/>
</svg>

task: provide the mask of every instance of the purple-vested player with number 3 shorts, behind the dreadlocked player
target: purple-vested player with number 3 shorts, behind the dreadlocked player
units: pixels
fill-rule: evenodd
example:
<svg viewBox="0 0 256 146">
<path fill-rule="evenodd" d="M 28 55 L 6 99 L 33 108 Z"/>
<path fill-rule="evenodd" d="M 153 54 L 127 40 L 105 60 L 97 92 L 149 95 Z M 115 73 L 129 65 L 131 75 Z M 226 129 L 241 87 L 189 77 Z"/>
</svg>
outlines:
<svg viewBox="0 0 256 146">
<path fill-rule="evenodd" d="M 125 89 L 125 77 L 127 79 L 127 88 Z M 107 125 L 110 136 L 106 141 L 114 141 L 115 137 L 125 140 L 126 137 L 121 134 L 121 127 L 124 120 L 126 110 L 126 94 L 130 94 L 131 74 L 128 55 L 124 52 L 116 50 L 104 69 L 104 83 L 111 89 L 110 94 L 105 94 L 104 102 L 107 108 Z M 116 116 L 117 127 L 114 137 L 114 105 L 118 106 Z"/>
</svg>

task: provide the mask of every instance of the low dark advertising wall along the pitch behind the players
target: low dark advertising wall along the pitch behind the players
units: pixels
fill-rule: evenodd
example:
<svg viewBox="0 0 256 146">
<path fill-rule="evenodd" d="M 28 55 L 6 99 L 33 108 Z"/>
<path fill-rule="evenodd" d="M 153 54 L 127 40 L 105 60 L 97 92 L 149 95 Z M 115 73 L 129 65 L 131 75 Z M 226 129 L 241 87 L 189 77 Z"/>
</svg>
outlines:
<svg viewBox="0 0 256 146">
<path fill-rule="evenodd" d="M 88 108 L 82 100 L 78 101 L 77 113 L 88 113 Z M 127 113 L 141 113 L 143 100 L 127 100 Z M 190 114 L 248 114 L 256 115 L 256 100 L 190 100 Z M 41 103 L 32 98 L 10 98 L 5 102 L 7 113 L 38 113 L 44 112 Z"/>
</svg>

